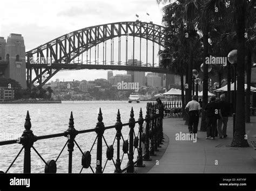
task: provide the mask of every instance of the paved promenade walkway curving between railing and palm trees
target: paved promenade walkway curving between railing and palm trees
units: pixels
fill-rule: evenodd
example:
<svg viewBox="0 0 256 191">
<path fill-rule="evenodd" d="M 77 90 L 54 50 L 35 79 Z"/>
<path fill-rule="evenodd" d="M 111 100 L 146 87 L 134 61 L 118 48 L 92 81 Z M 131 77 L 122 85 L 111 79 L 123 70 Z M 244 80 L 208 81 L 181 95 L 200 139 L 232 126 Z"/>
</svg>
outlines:
<svg viewBox="0 0 256 191">
<path fill-rule="evenodd" d="M 207 140 L 206 132 L 199 131 L 196 143 L 192 140 L 176 140 L 176 133 L 188 133 L 184 123 L 181 118 L 164 119 L 163 129 L 167 138 L 164 147 L 156 152 L 162 157 L 158 157 L 159 162 L 153 163 L 154 166 L 147 173 L 256 173 L 254 147 L 230 147 L 232 117 L 228 120 L 227 138 Z M 252 116 L 251 123 L 246 124 L 246 133 L 248 142 L 256 143 L 256 116 Z M 155 160 L 155 157 L 152 159 Z"/>
</svg>

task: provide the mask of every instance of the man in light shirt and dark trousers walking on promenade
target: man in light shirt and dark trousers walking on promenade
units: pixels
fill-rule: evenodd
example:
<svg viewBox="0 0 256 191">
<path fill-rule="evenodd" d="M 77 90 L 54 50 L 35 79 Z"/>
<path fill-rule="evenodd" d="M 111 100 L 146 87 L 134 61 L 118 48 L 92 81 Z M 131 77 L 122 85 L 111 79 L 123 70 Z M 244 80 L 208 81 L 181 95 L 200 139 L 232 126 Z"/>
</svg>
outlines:
<svg viewBox="0 0 256 191">
<path fill-rule="evenodd" d="M 200 104 L 197 100 L 197 96 L 193 95 L 192 101 L 188 102 L 185 108 L 188 114 L 188 131 L 194 135 L 198 131 L 199 114 L 201 111 Z"/>
</svg>

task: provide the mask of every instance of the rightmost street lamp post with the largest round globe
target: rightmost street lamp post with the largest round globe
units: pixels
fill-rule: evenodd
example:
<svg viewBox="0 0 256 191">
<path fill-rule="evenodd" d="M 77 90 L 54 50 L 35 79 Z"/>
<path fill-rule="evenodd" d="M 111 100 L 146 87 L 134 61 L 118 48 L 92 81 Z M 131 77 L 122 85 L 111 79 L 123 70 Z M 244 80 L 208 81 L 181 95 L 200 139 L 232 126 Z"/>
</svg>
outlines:
<svg viewBox="0 0 256 191">
<path fill-rule="evenodd" d="M 237 107 L 237 49 L 233 49 L 230 53 L 227 55 L 228 61 L 233 65 L 234 68 L 234 103 L 233 103 L 233 136 L 235 133 L 235 111 Z"/>
</svg>

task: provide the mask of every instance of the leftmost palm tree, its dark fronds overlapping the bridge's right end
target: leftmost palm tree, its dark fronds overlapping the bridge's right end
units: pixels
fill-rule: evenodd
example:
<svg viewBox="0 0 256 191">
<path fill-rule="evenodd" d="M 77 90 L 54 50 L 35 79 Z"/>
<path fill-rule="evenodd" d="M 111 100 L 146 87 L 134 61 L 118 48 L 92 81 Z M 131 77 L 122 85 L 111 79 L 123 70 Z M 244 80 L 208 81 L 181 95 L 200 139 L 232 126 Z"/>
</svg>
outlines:
<svg viewBox="0 0 256 191">
<path fill-rule="evenodd" d="M 167 1 L 157 1 L 157 3 L 166 3 Z M 169 1 L 171 2 L 171 1 Z M 165 49 L 159 51 L 161 56 L 161 67 L 167 68 L 173 73 L 180 75 L 181 80 L 181 102 L 183 117 L 185 117 L 185 95 L 184 95 L 184 70 L 186 69 L 186 40 L 185 38 L 185 25 L 183 19 L 184 6 L 180 2 L 174 2 L 164 6 L 162 23 L 166 26 L 165 33 Z M 186 73 L 187 76 L 187 73 Z M 186 94 L 187 101 L 187 94 Z"/>
</svg>

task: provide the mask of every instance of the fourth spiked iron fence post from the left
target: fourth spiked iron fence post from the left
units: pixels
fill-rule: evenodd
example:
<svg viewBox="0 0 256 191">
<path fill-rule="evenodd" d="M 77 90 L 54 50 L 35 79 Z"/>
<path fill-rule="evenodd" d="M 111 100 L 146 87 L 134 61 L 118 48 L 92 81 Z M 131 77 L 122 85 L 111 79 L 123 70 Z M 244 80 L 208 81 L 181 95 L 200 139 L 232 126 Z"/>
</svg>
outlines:
<svg viewBox="0 0 256 191">
<path fill-rule="evenodd" d="M 116 160 L 116 170 L 115 173 L 122 173 L 121 170 L 121 160 L 120 160 L 120 139 L 121 139 L 121 130 L 123 128 L 120 117 L 119 109 L 117 111 L 117 122 L 116 122 L 116 130 L 117 130 L 117 160 Z"/>
</svg>

